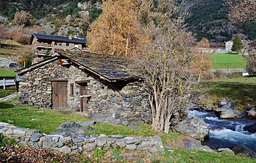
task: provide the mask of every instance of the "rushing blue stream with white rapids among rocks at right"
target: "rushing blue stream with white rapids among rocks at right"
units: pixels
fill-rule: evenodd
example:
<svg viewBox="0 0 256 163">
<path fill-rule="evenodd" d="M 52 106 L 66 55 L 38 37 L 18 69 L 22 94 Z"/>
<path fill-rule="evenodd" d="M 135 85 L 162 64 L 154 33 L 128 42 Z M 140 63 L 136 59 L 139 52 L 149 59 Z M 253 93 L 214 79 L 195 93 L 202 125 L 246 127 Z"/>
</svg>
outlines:
<svg viewBox="0 0 256 163">
<path fill-rule="evenodd" d="M 237 143 L 244 144 L 256 151 L 256 133 L 244 131 L 244 126 L 252 125 L 256 120 L 247 118 L 220 119 L 215 112 L 190 110 L 188 117 L 200 117 L 207 123 L 209 139 L 202 142 L 211 149 L 232 148 Z"/>
</svg>

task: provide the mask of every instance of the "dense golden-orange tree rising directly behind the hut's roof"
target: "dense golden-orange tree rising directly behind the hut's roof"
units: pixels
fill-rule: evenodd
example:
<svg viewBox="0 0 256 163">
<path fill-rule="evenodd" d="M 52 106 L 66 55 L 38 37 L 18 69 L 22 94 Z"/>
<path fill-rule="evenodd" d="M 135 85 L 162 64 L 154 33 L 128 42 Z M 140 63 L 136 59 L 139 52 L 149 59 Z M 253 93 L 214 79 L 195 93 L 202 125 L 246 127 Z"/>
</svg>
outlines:
<svg viewBox="0 0 256 163">
<path fill-rule="evenodd" d="M 138 4 L 132 0 L 107 0 L 102 14 L 87 35 L 88 49 L 97 53 L 135 56 L 146 42 L 138 24 Z"/>
</svg>

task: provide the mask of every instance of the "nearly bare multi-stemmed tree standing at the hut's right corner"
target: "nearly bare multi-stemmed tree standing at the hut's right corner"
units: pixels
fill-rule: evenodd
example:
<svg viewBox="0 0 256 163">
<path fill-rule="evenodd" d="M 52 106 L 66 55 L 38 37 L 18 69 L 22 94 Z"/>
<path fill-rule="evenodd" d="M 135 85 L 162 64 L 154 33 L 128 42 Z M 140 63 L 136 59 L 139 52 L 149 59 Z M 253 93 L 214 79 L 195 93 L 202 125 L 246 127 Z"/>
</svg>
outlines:
<svg viewBox="0 0 256 163">
<path fill-rule="evenodd" d="M 133 73 L 144 80 L 149 90 L 152 109 L 152 128 L 168 133 L 197 74 L 191 66 L 194 37 L 186 32 L 185 14 L 178 12 L 174 0 L 144 1 L 140 22 L 144 33 L 149 35 L 144 55 L 134 59 Z"/>
</svg>

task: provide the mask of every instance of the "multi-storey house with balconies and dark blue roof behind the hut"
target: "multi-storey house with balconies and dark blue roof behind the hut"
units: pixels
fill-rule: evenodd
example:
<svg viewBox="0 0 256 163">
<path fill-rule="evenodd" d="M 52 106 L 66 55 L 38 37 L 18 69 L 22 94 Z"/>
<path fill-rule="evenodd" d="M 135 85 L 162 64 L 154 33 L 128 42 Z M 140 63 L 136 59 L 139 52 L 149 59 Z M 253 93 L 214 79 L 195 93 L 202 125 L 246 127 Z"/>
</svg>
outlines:
<svg viewBox="0 0 256 163">
<path fill-rule="evenodd" d="M 31 35 L 30 44 L 32 51 L 36 54 L 34 62 L 44 59 L 44 57 L 54 55 L 54 51 L 80 49 L 86 50 L 86 38 L 83 37 L 67 37 L 60 35 L 44 35 L 33 33 Z"/>
</svg>

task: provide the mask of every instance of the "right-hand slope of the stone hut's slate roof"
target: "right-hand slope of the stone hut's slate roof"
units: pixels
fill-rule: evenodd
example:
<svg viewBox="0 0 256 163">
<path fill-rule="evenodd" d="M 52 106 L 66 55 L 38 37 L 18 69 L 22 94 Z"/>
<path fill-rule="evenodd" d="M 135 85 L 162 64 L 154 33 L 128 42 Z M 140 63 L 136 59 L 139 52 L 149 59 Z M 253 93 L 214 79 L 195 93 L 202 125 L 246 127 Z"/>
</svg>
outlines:
<svg viewBox="0 0 256 163">
<path fill-rule="evenodd" d="M 57 53 L 109 81 L 131 80 L 136 78 L 125 68 L 131 63 L 128 58 L 93 54 L 89 51 L 57 51 Z"/>
</svg>

